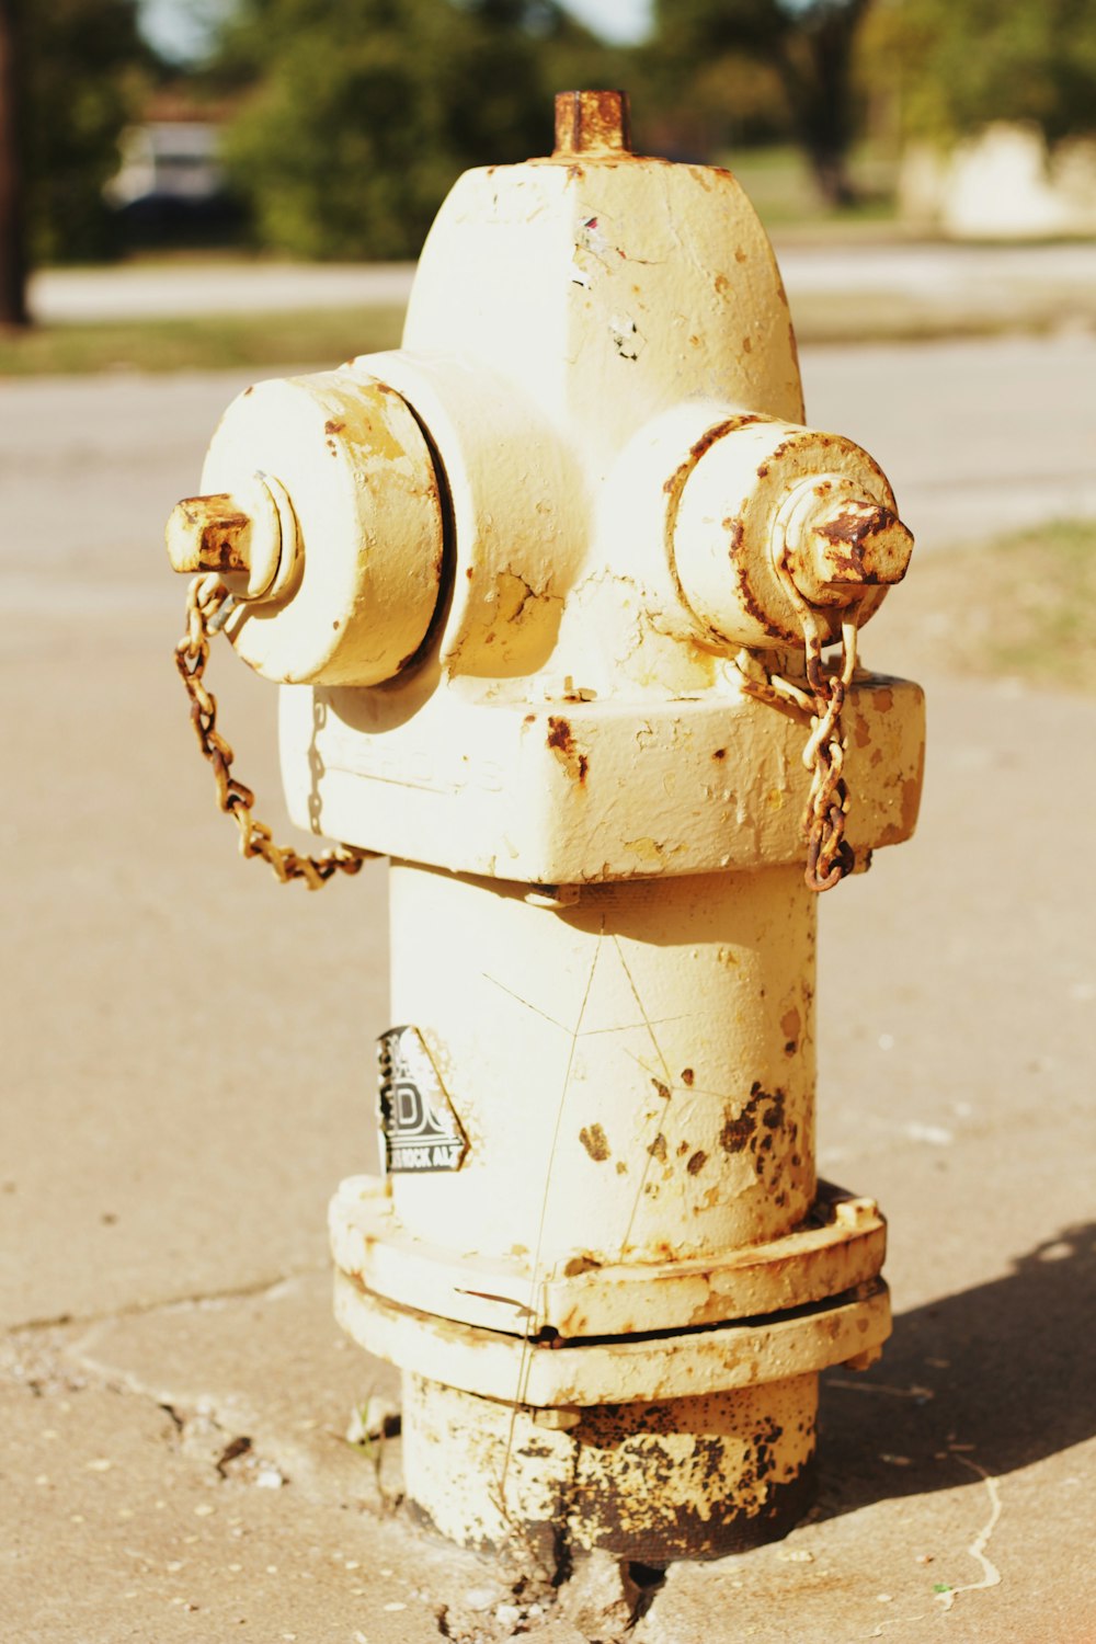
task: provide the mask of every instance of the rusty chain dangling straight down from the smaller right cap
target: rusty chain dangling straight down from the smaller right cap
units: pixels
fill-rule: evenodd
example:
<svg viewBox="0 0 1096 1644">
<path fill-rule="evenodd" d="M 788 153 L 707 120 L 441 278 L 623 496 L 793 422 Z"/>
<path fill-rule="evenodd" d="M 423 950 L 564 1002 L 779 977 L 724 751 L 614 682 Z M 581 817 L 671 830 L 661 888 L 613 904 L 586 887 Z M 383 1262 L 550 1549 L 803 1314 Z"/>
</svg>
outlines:
<svg viewBox="0 0 1096 1644">
<path fill-rule="evenodd" d="M 782 567 L 781 567 L 782 570 Z M 735 664 L 743 690 L 769 702 L 784 712 L 810 723 L 804 748 L 804 764 L 810 771 L 810 792 L 804 810 L 804 838 L 807 840 L 807 870 L 804 878 L 812 891 L 830 891 L 846 873 L 853 871 L 853 850 L 845 838 L 845 819 L 850 792 L 845 784 L 845 730 L 841 709 L 856 671 L 856 615 L 841 623 L 841 656 L 836 667 L 827 669 L 822 661 L 822 628 L 815 612 L 807 605 L 792 579 L 782 574 L 795 605 L 807 651 L 807 684 L 810 690 L 779 674 L 771 674 L 751 651 L 739 651 Z M 856 613 L 856 607 L 853 607 Z"/>
</svg>

